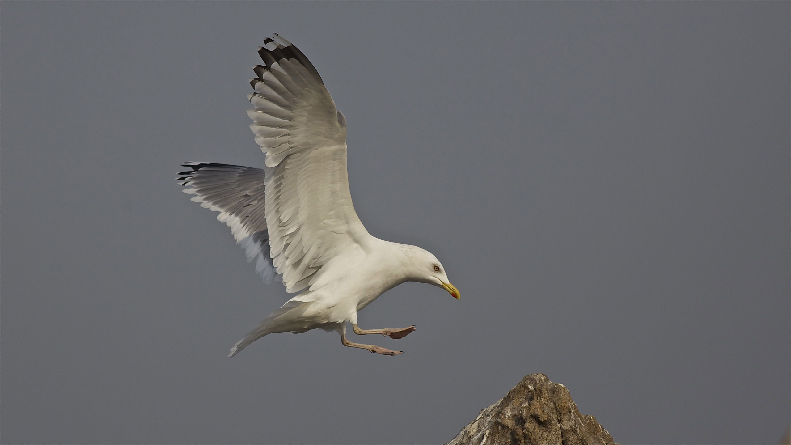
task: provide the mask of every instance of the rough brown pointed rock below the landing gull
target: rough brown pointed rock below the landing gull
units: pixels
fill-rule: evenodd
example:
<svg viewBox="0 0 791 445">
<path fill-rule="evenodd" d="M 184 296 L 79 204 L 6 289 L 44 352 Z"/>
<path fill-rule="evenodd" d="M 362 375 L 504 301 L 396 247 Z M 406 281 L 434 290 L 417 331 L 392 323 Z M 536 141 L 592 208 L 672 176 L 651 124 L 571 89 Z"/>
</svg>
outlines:
<svg viewBox="0 0 791 445">
<path fill-rule="evenodd" d="M 566 386 L 543 374 L 526 375 L 447 445 L 507 443 L 614 444 L 596 417 L 580 414 Z"/>
</svg>

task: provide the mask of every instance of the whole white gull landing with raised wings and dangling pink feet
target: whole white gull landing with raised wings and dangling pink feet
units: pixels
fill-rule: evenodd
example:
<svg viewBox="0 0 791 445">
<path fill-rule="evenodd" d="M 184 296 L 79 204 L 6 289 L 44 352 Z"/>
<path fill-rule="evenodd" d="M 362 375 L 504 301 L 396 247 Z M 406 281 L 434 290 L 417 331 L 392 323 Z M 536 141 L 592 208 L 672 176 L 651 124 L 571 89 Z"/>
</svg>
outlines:
<svg viewBox="0 0 791 445">
<path fill-rule="evenodd" d="M 336 331 L 341 344 L 384 356 L 393 351 L 346 339 L 399 339 L 417 329 L 361 329 L 358 312 L 407 281 L 442 287 L 459 299 L 437 257 L 414 245 L 373 237 L 354 211 L 346 172 L 346 118 L 335 108 L 316 68 L 278 34 L 263 40 L 248 110 L 264 168 L 185 162 L 176 179 L 191 200 L 220 212 L 264 283 L 297 293 L 243 339 L 229 357 L 271 333 Z"/>
</svg>

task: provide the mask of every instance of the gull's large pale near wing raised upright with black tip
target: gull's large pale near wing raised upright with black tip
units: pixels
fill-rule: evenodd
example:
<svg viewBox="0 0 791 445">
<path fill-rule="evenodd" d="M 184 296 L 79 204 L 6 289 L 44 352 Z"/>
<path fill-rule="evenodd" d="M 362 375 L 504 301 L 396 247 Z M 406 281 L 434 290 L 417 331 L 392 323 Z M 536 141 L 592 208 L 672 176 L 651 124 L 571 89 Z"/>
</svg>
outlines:
<svg viewBox="0 0 791 445">
<path fill-rule="evenodd" d="M 361 253 L 370 238 L 349 192 L 346 120 L 324 82 L 293 44 L 264 40 L 248 112 L 266 156 L 271 258 L 286 291 L 305 289 L 335 257 Z"/>
</svg>

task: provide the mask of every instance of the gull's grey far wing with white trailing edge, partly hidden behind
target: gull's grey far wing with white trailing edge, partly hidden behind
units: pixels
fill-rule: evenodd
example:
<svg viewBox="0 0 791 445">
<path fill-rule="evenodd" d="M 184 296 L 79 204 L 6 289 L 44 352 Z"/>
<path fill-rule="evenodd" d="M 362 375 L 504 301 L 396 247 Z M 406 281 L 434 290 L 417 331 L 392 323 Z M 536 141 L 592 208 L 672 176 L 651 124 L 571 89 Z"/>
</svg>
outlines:
<svg viewBox="0 0 791 445">
<path fill-rule="evenodd" d="M 279 281 L 269 255 L 263 170 L 214 162 L 185 162 L 181 166 L 189 169 L 176 178 L 189 187 L 183 192 L 196 195 L 192 200 L 202 207 L 220 212 L 217 219 L 231 228 L 248 262 L 255 260 L 255 273 L 264 283 Z"/>
</svg>

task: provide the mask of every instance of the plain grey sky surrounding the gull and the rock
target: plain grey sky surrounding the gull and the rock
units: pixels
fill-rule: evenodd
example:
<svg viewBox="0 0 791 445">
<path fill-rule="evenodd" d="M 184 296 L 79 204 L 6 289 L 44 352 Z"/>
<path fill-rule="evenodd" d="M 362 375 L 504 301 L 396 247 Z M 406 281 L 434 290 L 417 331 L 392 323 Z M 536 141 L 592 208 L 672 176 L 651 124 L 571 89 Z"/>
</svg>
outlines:
<svg viewBox="0 0 791 445">
<path fill-rule="evenodd" d="M 371 234 L 362 327 L 282 304 L 184 161 L 261 165 L 255 49 L 305 52 Z M 444 443 L 524 375 L 620 443 L 789 426 L 789 2 L 2 2 L 3 443 Z"/>
</svg>

